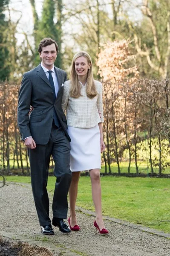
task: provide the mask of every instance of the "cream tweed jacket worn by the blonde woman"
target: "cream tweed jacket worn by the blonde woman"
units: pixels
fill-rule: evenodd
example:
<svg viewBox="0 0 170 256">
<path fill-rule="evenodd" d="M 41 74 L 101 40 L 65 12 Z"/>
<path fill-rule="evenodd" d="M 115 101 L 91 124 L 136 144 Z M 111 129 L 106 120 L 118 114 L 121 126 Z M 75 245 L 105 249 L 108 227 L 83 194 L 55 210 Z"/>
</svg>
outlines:
<svg viewBox="0 0 170 256">
<path fill-rule="evenodd" d="M 70 81 L 64 82 L 62 98 L 63 112 L 66 110 L 67 125 L 79 128 L 94 127 L 100 122 L 104 122 L 102 103 L 102 84 L 95 81 L 97 96 L 89 99 L 86 95 L 86 84 L 81 84 L 81 95 L 78 99 L 69 96 Z M 101 118 L 98 111 L 101 111 Z"/>
</svg>

